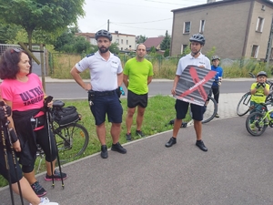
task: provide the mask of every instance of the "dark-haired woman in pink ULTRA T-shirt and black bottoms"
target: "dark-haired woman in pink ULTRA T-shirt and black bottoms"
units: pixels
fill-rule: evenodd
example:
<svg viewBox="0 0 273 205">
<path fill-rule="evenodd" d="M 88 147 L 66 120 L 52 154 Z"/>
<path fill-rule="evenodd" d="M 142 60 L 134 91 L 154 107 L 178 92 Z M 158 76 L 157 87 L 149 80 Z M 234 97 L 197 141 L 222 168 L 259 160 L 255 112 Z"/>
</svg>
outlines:
<svg viewBox="0 0 273 205">
<path fill-rule="evenodd" d="M 45 104 L 45 92 L 40 78 L 31 73 L 30 57 L 24 50 L 8 48 L 0 60 L 1 96 L 6 105 L 12 108 L 12 115 L 8 117 L 9 126 L 15 128 L 20 140 L 21 149 L 15 149 L 22 165 L 25 179 L 28 180 L 38 197 L 46 194 L 45 189 L 35 179 L 35 159 L 39 144 L 45 151 L 46 174 L 45 180 L 61 179 L 61 174 L 55 170 L 56 142 L 53 133 L 45 126 L 45 110 L 53 102 Z M 31 119 L 35 121 L 33 126 Z M 51 150 L 48 138 L 51 138 Z M 52 162 L 52 168 L 51 168 Z M 51 170 L 54 170 L 52 173 Z M 63 179 L 66 179 L 66 173 Z"/>
</svg>

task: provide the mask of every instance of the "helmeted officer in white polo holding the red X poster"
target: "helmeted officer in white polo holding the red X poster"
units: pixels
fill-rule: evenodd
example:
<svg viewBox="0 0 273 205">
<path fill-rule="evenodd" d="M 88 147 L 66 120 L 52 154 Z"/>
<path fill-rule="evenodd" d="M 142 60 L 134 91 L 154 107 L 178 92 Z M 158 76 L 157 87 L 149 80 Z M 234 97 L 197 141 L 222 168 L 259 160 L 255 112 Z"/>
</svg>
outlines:
<svg viewBox="0 0 273 205">
<path fill-rule="evenodd" d="M 172 95 L 176 94 L 177 82 L 180 76 L 182 75 L 183 70 L 188 65 L 203 67 L 209 70 L 211 69 L 209 59 L 207 58 L 207 56 L 204 56 L 203 54 L 201 54 L 201 48 L 205 45 L 205 41 L 206 41 L 205 37 L 201 34 L 195 34 L 189 38 L 189 41 L 190 41 L 191 53 L 188 54 L 187 56 L 181 57 L 178 62 L 177 73 L 174 80 L 173 88 L 171 90 Z M 167 148 L 170 148 L 174 144 L 177 144 L 177 134 L 180 129 L 182 119 L 186 117 L 188 105 L 189 105 L 188 102 L 182 101 L 180 99 L 177 99 L 176 101 L 175 108 L 177 111 L 177 118 L 175 119 L 175 124 L 173 128 L 173 137 L 170 138 L 165 145 Z M 204 142 L 202 141 L 202 120 L 203 120 L 204 107 L 191 104 L 190 108 L 193 115 L 192 118 L 194 120 L 194 128 L 197 134 L 196 145 L 199 149 L 203 151 L 207 151 L 207 148 Z"/>
</svg>

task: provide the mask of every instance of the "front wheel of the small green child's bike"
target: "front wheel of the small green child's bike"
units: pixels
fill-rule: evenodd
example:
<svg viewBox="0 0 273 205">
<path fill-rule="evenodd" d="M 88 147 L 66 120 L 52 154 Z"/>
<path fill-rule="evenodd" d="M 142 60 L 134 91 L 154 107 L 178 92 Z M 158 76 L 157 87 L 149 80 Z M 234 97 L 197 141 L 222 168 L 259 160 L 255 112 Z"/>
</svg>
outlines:
<svg viewBox="0 0 273 205">
<path fill-rule="evenodd" d="M 268 128 L 267 119 L 264 118 L 263 113 L 253 112 L 246 120 L 246 128 L 248 133 L 253 136 L 260 136 Z"/>
</svg>

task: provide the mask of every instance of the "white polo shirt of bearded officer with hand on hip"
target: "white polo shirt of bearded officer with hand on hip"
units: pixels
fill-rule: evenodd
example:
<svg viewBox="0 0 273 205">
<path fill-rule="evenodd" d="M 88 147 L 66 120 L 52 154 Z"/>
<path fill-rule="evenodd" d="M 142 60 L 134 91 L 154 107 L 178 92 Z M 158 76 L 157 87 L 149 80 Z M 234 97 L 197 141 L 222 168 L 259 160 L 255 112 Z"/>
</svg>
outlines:
<svg viewBox="0 0 273 205">
<path fill-rule="evenodd" d="M 110 53 L 109 59 L 100 56 L 97 51 L 90 54 L 76 64 L 76 69 L 83 72 L 90 70 L 90 79 L 94 91 L 110 91 L 117 87 L 117 74 L 122 73 L 123 68 L 118 56 Z"/>
</svg>

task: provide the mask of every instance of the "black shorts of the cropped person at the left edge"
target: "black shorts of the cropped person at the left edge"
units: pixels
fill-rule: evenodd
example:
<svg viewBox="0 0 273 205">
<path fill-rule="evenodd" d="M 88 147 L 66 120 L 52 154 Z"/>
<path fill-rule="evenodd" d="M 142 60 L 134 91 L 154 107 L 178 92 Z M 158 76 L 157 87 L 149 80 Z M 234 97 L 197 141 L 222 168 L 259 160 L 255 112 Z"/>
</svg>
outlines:
<svg viewBox="0 0 273 205">
<path fill-rule="evenodd" d="M 8 146 L 8 143 L 6 143 L 6 146 Z M 10 176 L 11 176 L 11 182 L 12 184 L 14 184 L 23 178 L 22 169 L 20 168 L 16 157 L 15 157 L 15 163 L 16 163 L 16 169 L 15 169 L 14 160 L 12 157 L 10 147 L 8 146 L 6 150 L 7 150 L 6 152 L 7 152 L 7 160 L 8 160 L 8 167 L 9 167 Z M 15 171 L 17 172 L 18 179 L 16 178 Z M 8 179 L 8 170 L 6 169 L 6 165 L 5 165 L 5 155 L 4 155 L 4 147 L 3 147 L 2 141 L 0 142 L 0 174 L 3 175 L 5 179 Z"/>
</svg>

